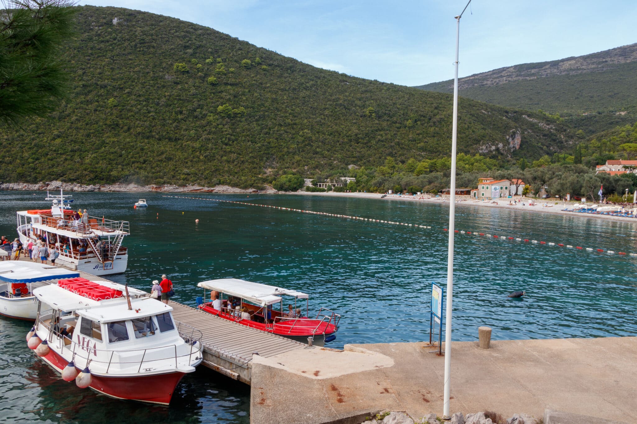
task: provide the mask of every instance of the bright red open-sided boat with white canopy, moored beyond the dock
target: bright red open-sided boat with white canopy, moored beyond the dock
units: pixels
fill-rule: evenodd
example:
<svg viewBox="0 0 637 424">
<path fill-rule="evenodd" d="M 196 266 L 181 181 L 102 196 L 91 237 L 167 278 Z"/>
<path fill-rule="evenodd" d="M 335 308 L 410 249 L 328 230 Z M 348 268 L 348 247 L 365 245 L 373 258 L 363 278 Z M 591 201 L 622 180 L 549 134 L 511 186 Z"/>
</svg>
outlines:
<svg viewBox="0 0 637 424">
<path fill-rule="evenodd" d="M 317 346 L 336 339 L 341 316 L 327 308 L 320 308 L 316 317 L 308 317 L 309 296 L 305 293 L 236 278 L 204 281 L 197 285 L 204 289 L 204 296 L 197 297 L 197 306 L 217 317 L 303 343 L 311 339 L 311 343 Z M 206 290 L 211 296 L 208 302 L 203 301 Z M 220 300 L 216 304 L 212 298 L 215 294 Z M 282 296 L 294 298 L 294 303 L 291 300 L 288 303 L 292 305 L 292 313 L 289 306 L 284 308 Z M 297 305 L 299 299 L 304 300 L 304 308 Z M 277 304 L 279 310 L 273 307 Z"/>
</svg>

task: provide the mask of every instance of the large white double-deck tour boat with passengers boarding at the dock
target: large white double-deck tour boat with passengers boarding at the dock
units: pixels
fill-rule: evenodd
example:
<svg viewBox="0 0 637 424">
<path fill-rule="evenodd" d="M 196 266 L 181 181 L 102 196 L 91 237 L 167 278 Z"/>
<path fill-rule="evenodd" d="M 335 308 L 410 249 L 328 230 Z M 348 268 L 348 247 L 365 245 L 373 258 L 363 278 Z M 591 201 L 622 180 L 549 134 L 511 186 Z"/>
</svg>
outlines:
<svg viewBox="0 0 637 424">
<path fill-rule="evenodd" d="M 60 254 L 55 261 L 72 270 L 92 275 L 123 273 L 128 266 L 128 250 L 122 242 L 130 234 L 129 222 L 88 215 L 78 220 L 72 210 L 63 209 L 63 201 L 61 191 L 51 209 L 18 212 L 20 241 L 26 244 L 36 242 L 38 236 L 45 237 L 48 249 Z"/>
</svg>

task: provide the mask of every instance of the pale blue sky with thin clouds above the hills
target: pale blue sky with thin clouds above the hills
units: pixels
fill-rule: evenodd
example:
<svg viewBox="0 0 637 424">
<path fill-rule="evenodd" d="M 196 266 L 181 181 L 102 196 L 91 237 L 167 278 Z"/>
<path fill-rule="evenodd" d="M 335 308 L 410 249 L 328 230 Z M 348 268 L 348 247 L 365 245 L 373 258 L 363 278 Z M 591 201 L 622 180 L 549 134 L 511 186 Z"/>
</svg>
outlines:
<svg viewBox="0 0 637 424">
<path fill-rule="evenodd" d="M 89 0 L 212 27 L 311 65 L 401 85 L 454 76 L 466 0 Z M 473 0 L 460 76 L 637 43 L 637 2 Z"/>
</svg>

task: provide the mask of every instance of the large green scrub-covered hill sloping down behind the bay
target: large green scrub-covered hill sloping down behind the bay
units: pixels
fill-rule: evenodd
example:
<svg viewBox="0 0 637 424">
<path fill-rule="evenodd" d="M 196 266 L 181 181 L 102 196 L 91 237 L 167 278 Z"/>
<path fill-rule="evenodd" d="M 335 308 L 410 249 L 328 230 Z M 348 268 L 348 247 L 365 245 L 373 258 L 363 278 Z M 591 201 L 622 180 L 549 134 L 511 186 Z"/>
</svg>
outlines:
<svg viewBox="0 0 637 424">
<path fill-rule="evenodd" d="M 181 20 L 83 6 L 53 120 L 0 132 L 0 181 L 254 186 L 287 170 L 438 158 L 452 98 L 317 69 Z M 540 113 L 461 99 L 459 151 L 528 160 L 571 144 Z"/>
</svg>

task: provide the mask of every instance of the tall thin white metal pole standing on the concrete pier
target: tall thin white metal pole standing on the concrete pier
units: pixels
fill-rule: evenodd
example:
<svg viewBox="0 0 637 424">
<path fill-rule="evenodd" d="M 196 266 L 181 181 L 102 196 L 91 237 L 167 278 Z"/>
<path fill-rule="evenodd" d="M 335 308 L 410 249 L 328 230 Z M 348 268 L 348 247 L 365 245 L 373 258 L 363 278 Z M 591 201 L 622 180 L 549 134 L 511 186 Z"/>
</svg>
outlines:
<svg viewBox="0 0 637 424">
<path fill-rule="evenodd" d="M 464 6 L 467 10 L 471 0 Z M 443 420 L 450 420 L 449 399 L 451 393 L 451 315 L 454 299 L 454 229 L 455 229 L 455 151 L 458 139 L 458 50 L 460 45 L 460 18 L 455 17 L 455 77 L 454 77 L 454 121 L 451 137 L 451 187 L 449 198 L 449 243 L 447 256 L 447 317 L 445 319 L 445 393 L 443 397 Z"/>
</svg>

